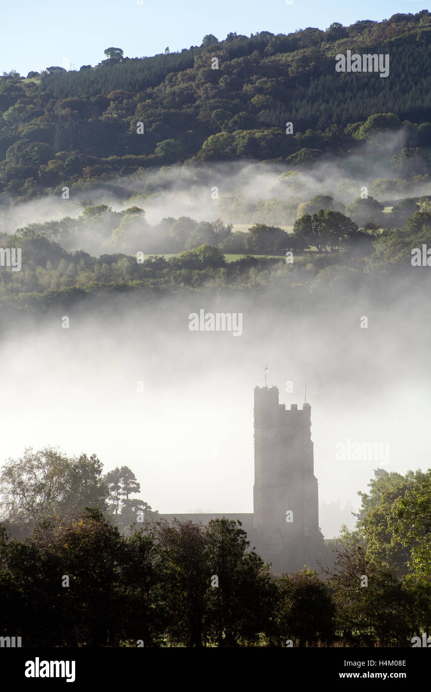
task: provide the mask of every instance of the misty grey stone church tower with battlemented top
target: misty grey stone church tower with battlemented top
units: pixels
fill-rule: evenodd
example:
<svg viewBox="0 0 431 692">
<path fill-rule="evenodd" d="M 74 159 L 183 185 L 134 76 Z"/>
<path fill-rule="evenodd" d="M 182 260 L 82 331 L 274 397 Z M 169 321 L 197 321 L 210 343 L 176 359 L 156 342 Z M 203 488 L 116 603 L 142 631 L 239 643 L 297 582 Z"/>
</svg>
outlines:
<svg viewBox="0 0 431 692">
<path fill-rule="evenodd" d="M 255 388 L 253 526 L 257 552 L 273 572 L 318 568 L 323 536 L 318 519 L 311 406 L 278 401 L 277 387 Z"/>
</svg>

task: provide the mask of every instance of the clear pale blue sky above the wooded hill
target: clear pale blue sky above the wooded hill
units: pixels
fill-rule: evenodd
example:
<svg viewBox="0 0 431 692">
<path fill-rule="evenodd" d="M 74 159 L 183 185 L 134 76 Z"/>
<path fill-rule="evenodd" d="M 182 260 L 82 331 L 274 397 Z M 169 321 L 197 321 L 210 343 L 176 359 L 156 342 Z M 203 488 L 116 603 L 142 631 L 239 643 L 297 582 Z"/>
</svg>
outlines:
<svg viewBox="0 0 431 692">
<path fill-rule="evenodd" d="M 1 0 L 0 74 L 62 65 L 80 69 L 104 58 L 104 48 L 122 48 L 129 57 L 199 46 L 205 34 L 223 39 L 230 31 L 289 33 L 306 26 L 326 29 L 358 19 L 388 19 L 396 12 L 415 14 L 430 5 L 422 0 Z"/>
</svg>

